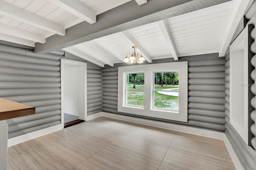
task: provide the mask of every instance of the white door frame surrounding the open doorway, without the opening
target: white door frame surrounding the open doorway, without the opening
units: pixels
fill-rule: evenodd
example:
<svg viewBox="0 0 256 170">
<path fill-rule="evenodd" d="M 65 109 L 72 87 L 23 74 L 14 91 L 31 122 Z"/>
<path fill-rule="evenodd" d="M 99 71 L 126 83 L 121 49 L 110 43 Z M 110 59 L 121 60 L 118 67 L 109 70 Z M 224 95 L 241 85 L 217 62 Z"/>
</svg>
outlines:
<svg viewBox="0 0 256 170">
<path fill-rule="evenodd" d="M 61 125 L 64 128 L 64 65 L 74 65 L 80 67 L 80 87 L 82 91 L 79 96 L 79 101 L 84 103 L 79 108 L 79 119 L 87 120 L 87 63 L 81 61 L 73 61 L 69 59 L 60 59 L 60 88 L 61 88 Z"/>
</svg>

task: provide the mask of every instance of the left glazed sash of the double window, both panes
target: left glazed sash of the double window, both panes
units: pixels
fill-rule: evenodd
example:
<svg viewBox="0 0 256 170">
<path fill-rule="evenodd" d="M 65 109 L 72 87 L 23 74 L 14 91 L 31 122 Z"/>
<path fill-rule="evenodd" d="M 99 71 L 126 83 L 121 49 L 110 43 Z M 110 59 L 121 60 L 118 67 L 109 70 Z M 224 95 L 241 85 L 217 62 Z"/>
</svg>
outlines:
<svg viewBox="0 0 256 170">
<path fill-rule="evenodd" d="M 144 107 L 144 73 L 126 73 L 126 105 Z"/>
</svg>

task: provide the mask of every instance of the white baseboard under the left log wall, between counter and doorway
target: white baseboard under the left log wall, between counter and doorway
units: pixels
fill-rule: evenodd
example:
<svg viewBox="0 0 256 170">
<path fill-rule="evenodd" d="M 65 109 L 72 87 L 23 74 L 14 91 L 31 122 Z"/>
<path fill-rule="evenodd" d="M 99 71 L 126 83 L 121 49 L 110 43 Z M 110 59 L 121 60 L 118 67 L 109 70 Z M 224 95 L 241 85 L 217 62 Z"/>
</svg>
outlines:
<svg viewBox="0 0 256 170">
<path fill-rule="evenodd" d="M 14 138 L 10 138 L 8 139 L 8 147 L 22 143 L 22 142 L 26 142 L 28 140 L 43 136 L 45 134 L 55 132 L 57 130 L 61 130 L 62 128 L 63 128 L 63 125 L 60 124 L 60 125 L 55 125 L 53 127 L 44 128 L 41 130 L 36 130 L 34 132 L 23 134 Z"/>
</svg>

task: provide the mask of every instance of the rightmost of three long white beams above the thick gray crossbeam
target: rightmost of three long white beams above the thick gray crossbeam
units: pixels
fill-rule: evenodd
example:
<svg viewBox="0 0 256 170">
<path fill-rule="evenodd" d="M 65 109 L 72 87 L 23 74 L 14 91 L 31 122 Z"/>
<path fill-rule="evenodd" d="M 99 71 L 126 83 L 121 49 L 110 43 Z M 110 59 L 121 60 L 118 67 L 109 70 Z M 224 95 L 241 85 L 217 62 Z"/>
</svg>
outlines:
<svg viewBox="0 0 256 170">
<path fill-rule="evenodd" d="M 82 4 L 79 0 L 49 0 L 64 10 L 82 18 L 90 24 L 96 22 L 96 14 L 93 10 Z"/>
</svg>

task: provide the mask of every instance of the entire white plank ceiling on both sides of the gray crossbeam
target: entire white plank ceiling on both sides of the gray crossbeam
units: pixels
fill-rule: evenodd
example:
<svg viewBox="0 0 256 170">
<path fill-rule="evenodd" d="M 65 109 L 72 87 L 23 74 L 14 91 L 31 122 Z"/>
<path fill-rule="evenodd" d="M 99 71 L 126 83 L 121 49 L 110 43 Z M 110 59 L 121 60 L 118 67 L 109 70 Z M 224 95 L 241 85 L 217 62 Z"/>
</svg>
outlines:
<svg viewBox="0 0 256 170">
<path fill-rule="evenodd" d="M 96 16 L 131 0 L 1 0 L 0 40 L 28 45 L 45 43 L 80 22 L 96 22 Z M 166 20 L 150 23 L 63 50 L 104 67 L 120 63 L 132 46 L 144 58 L 162 59 L 220 53 L 241 0 L 232 0 Z M 136 0 L 142 5 L 147 0 Z M 35 19 L 36 18 L 36 19 Z M 231 33 L 230 33 L 231 34 Z"/>
</svg>

